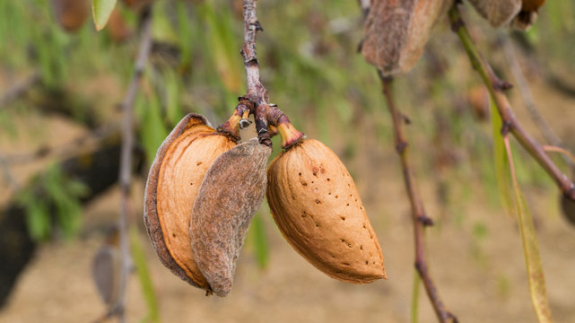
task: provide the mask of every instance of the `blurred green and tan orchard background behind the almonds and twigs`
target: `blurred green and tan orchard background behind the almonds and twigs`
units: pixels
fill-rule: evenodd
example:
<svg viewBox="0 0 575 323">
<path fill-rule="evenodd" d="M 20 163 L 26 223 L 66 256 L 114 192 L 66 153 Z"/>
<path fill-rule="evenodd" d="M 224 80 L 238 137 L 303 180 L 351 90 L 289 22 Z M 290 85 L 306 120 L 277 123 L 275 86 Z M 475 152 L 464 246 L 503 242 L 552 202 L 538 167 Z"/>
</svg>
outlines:
<svg viewBox="0 0 575 323">
<path fill-rule="evenodd" d="M 91 322 L 105 311 L 91 266 L 120 210 L 118 107 L 134 68 L 138 13 L 118 4 L 105 30 L 96 32 L 88 16 L 78 30 L 65 31 L 54 4 L 0 1 L 0 322 Z M 152 54 L 135 100 L 131 227 L 135 258 L 146 266 L 130 275 L 126 318 L 409 321 L 410 208 L 379 79 L 357 54 L 361 10 L 354 1 L 300 0 L 261 1 L 257 9 L 265 29 L 257 52 L 270 100 L 347 165 L 383 248 L 388 281 L 344 284 L 318 272 L 283 240 L 265 203 L 229 297 L 205 297 L 161 266 L 141 221 L 149 164 L 186 113 L 201 113 L 213 125 L 228 118 L 245 81 L 240 1 L 159 0 Z M 516 83 L 510 64 L 518 63 L 537 109 L 573 151 L 575 3 L 547 2 L 527 32 L 493 30 L 469 5 L 462 10 L 502 78 Z M 506 55 L 505 46 L 514 54 Z M 535 322 L 517 220 L 503 210 L 497 189 L 489 100 L 447 17 L 414 70 L 396 79 L 396 94 L 412 121 L 414 166 L 436 223 L 427 250 L 443 301 L 462 322 Z M 525 97 L 517 88 L 509 96 L 519 120 L 545 142 Z M 573 322 L 575 227 L 562 215 L 553 181 L 512 145 L 553 317 Z M 279 146 L 274 138 L 274 154 Z M 419 321 L 436 321 L 423 289 L 419 300 Z"/>
</svg>

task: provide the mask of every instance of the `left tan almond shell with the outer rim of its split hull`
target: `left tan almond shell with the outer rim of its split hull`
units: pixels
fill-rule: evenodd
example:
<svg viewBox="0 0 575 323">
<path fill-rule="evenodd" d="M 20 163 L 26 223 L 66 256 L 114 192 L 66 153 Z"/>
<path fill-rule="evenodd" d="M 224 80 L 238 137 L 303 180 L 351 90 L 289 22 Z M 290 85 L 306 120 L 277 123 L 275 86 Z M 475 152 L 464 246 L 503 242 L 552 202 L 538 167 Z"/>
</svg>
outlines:
<svg viewBox="0 0 575 323">
<path fill-rule="evenodd" d="M 214 133 L 204 117 L 189 114 L 161 144 L 145 188 L 144 223 L 162 264 L 208 291 L 190 246 L 190 216 L 206 171 L 235 145 Z"/>
</svg>

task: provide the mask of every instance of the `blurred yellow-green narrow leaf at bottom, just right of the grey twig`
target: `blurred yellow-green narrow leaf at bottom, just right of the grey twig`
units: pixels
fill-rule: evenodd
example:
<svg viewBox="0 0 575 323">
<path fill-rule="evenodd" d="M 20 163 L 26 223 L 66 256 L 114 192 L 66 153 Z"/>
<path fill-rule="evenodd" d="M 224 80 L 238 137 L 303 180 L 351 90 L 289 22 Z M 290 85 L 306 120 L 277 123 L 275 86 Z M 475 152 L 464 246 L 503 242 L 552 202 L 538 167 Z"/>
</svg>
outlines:
<svg viewBox="0 0 575 323">
<path fill-rule="evenodd" d="M 158 297 L 153 289 L 152 276 L 146 263 L 144 250 L 140 243 L 138 231 L 134 226 L 130 228 L 130 247 L 132 248 L 132 258 L 138 274 L 138 280 L 144 294 L 146 305 L 148 306 L 148 313 L 146 321 L 160 322 L 160 310 L 158 306 Z"/>
</svg>

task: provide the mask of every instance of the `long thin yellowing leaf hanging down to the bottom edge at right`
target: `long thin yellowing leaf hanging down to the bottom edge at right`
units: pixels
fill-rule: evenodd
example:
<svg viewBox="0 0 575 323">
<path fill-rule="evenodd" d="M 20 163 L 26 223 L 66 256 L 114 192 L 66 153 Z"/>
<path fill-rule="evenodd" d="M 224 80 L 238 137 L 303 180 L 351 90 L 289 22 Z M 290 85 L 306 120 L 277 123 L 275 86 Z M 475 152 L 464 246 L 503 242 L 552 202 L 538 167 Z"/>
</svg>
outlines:
<svg viewBox="0 0 575 323">
<path fill-rule="evenodd" d="M 511 179 L 513 182 L 519 232 L 521 232 L 523 256 L 525 257 L 525 263 L 527 266 L 527 280 L 529 282 L 529 292 L 531 292 L 531 301 L 533 302 L 533 307 L 536 311 L 539 322 L 552 322 L 551 309 L 549 308 L 547 292 L 545 291 L 545 275 L 543 273 L 543 265 L 541 264 L 541 257 L 539 255 L 539 243 L 537 242 L 535 225 L 533 224 L 533 218 L 529 212 L 525 197 L 519 188 L 518 181 L 515 176 L 509 137 L 506 136 L 504 138 L 504 143 L 510 165 Z"/>
</svg>

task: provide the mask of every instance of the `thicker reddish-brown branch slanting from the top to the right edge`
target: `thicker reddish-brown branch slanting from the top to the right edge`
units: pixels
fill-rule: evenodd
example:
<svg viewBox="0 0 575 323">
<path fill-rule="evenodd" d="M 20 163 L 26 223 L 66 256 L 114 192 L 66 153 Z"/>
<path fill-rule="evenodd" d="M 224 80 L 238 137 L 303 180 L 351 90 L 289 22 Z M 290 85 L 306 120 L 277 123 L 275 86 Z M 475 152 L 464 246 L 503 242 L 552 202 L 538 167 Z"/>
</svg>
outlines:
<svg viewBox="0 0 575 323">
<path fill-rule="evenodd" d="M 471 38 L 465 22 L 463 22 L 461 18 L 461 13 L 459 13 L 459 9 L 457 8 L 457 2 L 449 9 L 449 21 L 451 22 L 452 30 L 457 32 L 457 36 L 459 36 L 461 43 L 466 49 L 471 64 L 481 76 L 495 107 L 501 115 L 501 119 L 503 120 L 501 133 L 503 135 L 508 132 L 513 134 L 527 153 L 554 179 L 557 186 L 562 190 L 563 195 L 575 201 L 575 184 L 559 170 L 553 160 L 545 153 L 541 144 L 537 143 L 536 140 L 527 133 L 525 128 L 519 123 L 518 118 L 515 117 L 510 102 L 504 93 L 505 90 L 510 89 L 511 84 L 501 81 L 493 72 L 491 65 L 487 63 L 475 47 L 475 42 Z"/>
</svg>

